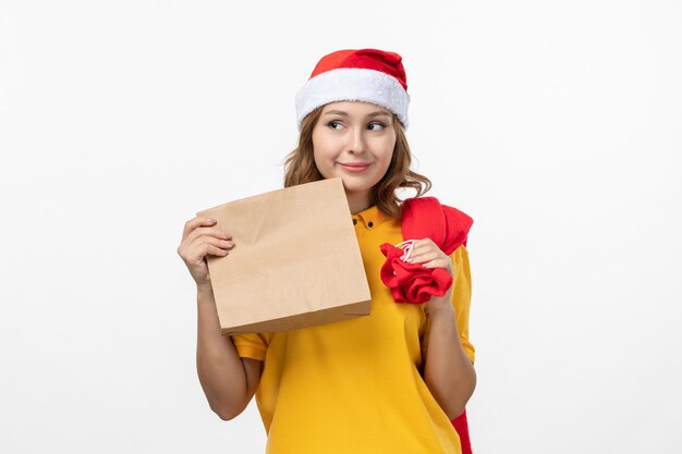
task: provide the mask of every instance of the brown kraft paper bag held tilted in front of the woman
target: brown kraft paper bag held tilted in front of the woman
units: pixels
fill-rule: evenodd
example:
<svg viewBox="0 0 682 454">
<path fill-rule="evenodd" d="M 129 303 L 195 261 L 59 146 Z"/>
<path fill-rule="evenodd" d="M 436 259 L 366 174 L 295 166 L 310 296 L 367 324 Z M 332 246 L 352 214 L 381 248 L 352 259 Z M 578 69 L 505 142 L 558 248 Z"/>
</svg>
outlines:
<svg viewBox="0 0 682 454">
<path fill-rule="evenodd" d="M 369 315 L 343 183 L 322 180 L 197 213 L 235 247 L 208 258 L 223 334 L 288 331 Z"/>
</svg>

